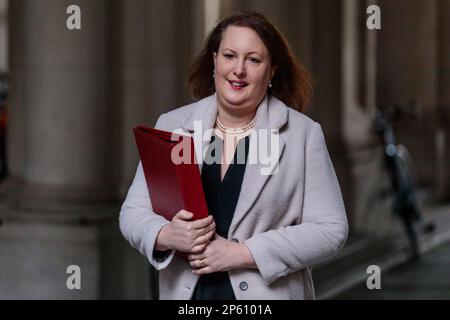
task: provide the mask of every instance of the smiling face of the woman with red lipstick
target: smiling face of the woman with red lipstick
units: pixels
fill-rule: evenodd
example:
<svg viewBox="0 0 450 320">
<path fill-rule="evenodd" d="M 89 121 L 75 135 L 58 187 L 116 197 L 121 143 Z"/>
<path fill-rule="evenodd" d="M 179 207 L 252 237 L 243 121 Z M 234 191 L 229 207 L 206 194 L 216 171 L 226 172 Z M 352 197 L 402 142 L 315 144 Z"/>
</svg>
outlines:
<svg viewBox="0 0 450 320">
<path fill-rule="evenodd" d="M 219 104 L 240 111 L 259 105 L 273 76 L 267 48 L 258 34 L 246 27 L 225 29 L 214 66 Z"/>
</svg>

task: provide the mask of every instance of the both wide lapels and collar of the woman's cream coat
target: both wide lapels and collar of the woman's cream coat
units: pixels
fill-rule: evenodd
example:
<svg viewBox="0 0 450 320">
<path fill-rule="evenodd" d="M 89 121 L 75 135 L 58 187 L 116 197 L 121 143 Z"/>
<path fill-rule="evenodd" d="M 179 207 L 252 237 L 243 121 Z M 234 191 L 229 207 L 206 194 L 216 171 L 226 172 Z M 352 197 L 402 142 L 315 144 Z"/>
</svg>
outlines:
<svg viewBox="0 0 450 320">
<path fill-rule="evenodd" d="M 182 122 L 182 127 L 191 134 L 201 131 L 199 132 L 201 134 L 194 134 L 194 146 L 197 152 L 197 161 L 199 162 L 200 172 L 202 170 L 204 153 L 211 140 L 216 116 L 217 103 L 216 95 L 214 94 L 197 102 L 194 110 Z M 246 165 L 236 210 L 234 212 L 233 220 L 231 221 L 229 235 L 234 232 L 239 222 L 250 210 L 270 177 L 270 174 L 267 172 L 267 165 L 258 161 L 258 140 L 268 138 L 268 136 L 264 135 L 264 132 L 270 135 L 272 130 L 274 134 L 278 134 L 287 121 L 288 108 L 286 105 L 275 97 L 266 96 L 256 112 L 255 130 L 250 135 L 249 160 Z M 283 136 L 278 135 L 278 138 L 279 152 L 277 163 L 279 163 L 281 159 L 285 146 Z M 200 152 L 202 152 L 201 161 L 199 160 Z M 250 159 L 253 159 L 254 161 Z"/>
</svg>

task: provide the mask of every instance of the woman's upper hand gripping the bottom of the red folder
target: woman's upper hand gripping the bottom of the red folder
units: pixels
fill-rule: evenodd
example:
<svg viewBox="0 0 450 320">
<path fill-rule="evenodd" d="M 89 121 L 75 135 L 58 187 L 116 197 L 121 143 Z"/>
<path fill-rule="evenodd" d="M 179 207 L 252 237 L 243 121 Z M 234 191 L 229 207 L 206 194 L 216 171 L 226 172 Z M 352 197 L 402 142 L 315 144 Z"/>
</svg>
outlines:
<svg viewBox="0 0 450 320">
<path fill-rule="evenodd" d="M 205 250 L 216 232 L 216 224 L 212 216 L 189 221 L 193 213 L 180 210 L 169 224 L 158 234 L 155 250 L 177 250 L 186 253 L 200 253 Z"/>
</svg>

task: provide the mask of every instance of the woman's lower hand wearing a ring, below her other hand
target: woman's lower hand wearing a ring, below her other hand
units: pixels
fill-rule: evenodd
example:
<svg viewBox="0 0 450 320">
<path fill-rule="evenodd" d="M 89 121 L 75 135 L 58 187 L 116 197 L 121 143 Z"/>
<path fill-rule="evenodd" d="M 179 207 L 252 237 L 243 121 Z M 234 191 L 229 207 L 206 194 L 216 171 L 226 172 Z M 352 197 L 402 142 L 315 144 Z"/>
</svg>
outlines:
<svg viewBox="0 0 450 320">
<path fill-rule="evenodd" d="M 195 274 L 207 274 L 242 268 L 256 268 L 255 260 L 245 244 L 229 241 L 215 235 L 205 251 L 188 255 Z"/>
</svg>

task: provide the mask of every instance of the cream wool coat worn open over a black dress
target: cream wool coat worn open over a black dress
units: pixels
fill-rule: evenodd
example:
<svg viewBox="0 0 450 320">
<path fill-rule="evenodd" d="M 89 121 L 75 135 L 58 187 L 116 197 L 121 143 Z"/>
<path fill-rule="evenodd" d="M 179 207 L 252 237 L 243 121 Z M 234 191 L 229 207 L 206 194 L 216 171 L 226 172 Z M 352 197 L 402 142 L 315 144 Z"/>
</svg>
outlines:
<svg viewBox="0 0 450 320">
<path fill-rule="evenodd" d="M 193 134 L 200 128 L 194 121 L 201 121 L 205 132 L 216 114 L 212 95 L 161 115 L 156 127 Z M 279 130 L 278 170 L 264 175 L 262 163 L 247 163 L 228 234 L 248 246 L 258 269 L 230 271 L 231 284 L 237 299 L 313 299 L 311 267 L 333 257 L 347 239 L 339 184 L 318 123 L 269 96 L 255 119 L 255 129 L 264 128 Z M 250 153 L 255 141 L 252 135 Z M 206 149 L 208 142 L 207 136 L 195 147 Z M 198 276 L 189 264 L 174 252 L 154 256 L 156 237 L 167 223 L 152 211 L 139 163 L 120 212 L 122 234 L 160 271 L 160 299 L 190 299 Z"/>
</svg>

